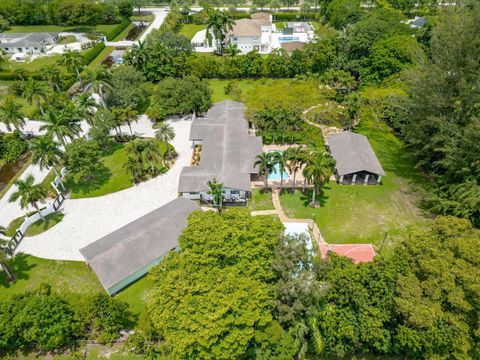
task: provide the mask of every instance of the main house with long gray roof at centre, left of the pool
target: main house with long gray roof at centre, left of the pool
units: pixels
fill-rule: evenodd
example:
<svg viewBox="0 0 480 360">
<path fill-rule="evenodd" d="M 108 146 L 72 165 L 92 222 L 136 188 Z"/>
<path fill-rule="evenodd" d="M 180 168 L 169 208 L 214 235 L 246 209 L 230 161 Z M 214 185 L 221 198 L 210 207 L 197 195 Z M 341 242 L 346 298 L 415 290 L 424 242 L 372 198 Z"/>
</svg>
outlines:
<svg viewBox="0 0 480 360">
<path fill-rule="evenodd" d="M 190 140 L 202 149 L 198 166 L 184 167 L 180 174 L 178 192 L 184 197 L 211 202 L 207 182 L 215 178 L 223 183 L 226 205 L 246 205 L 262 139 L 249 135 L 243 111 L 242 103 L 227 100 L 213 105 L 206 118 L 193 121 Z"/>
</svg>

